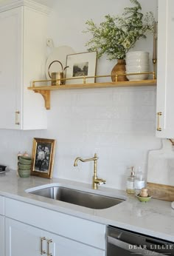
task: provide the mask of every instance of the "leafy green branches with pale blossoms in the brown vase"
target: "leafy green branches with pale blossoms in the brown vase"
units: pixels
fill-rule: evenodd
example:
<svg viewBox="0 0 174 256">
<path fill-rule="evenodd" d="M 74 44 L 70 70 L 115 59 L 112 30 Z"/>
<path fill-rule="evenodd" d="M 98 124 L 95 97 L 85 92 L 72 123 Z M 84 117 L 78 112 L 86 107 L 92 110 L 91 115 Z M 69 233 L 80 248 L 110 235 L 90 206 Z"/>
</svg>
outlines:
<svg viewBox="0 0 174 256">
<path fill-rule="evenodd" d="M 142 7 L 137 0 L 130 0 L 134 7 L 125 7 L 122 17 L 106 15 L 105 21 L 98 26 L 94 21 L 86 21 L 85 33 L 91 33 L 92 38 L 86 43 L 89 51 L 97 50 L 98 58 L 104 53 L 108 60 L 117 59 L 117 65 L 123 64 L 125 73 L 125 55 L 134 47 L 140 38 L 146 38 L 147 33 L 153 33 L 153 13 L 141 13 Z M 115 70 L 116 67 L 114 67 Z M 114 75 L 113 73 L 111 73 Z M 114 78 L 112 77 L 114 81 Z M 119 76 L 119 81 L 127 80 Z"/>
</svg>

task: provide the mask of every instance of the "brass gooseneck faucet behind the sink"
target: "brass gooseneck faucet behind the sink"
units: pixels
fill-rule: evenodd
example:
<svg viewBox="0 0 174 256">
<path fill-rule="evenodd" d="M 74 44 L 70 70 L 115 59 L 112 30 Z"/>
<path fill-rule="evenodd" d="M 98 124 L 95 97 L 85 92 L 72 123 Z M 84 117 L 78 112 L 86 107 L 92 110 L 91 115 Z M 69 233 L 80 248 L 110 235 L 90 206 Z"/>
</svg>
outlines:
<svg viewBox="0 0 174 256">
<path fill-rule="evenodd" d="M 88 162 L 88 161 L 94 161 L 94 175 L 92 177 L 92 188 L 93 189 L 98 189 L 98 185 L 105 184 L 105 180 L 102 178 L 97 178 L 97 154 L 94 154 L 94 158 L 88 158 L 88 159 L 83 159 L 83 158 L 75 158 L 74 161 L 74 166 L 77 166 L 77 162 L 80 160 L 82 162 Z"/>
</svg>

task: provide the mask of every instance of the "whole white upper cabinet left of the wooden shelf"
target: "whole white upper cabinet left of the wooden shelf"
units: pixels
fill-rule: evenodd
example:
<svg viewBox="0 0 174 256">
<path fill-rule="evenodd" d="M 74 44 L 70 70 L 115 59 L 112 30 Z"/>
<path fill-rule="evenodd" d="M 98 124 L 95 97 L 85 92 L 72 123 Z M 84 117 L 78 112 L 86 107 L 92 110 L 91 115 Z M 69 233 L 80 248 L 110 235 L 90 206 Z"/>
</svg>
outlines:
<svg viewBox="0 0 174 256">
<path fill-rule="evenodd" d="M 48 8 L 19 0 L 0 6 L 0 128 L 46 129 L 40 94 L 27 90 L 45 78 Z"/>
</svg>

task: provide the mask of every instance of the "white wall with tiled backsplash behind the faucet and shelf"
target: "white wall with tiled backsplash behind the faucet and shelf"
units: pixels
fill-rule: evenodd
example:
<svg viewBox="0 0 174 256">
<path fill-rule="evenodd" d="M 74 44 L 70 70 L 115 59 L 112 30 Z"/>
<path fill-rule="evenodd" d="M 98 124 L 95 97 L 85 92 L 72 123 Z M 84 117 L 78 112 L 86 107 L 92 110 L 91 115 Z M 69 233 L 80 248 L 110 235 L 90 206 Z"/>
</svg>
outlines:
<svg viewBox="0 0 174 256">
<path fill-rule="evenodd" d="M 156 15 L 157 0 L 140 2 L 143 10 L 153 10 Z M 106 14 L 122 12 L 130 5 L 128 0 L 47 3 L 54 10 L 48 38 L 52 38 L 55 47 L 68 45 L 77 53 L 86 51 L 84 45 L 89 35 L 81 31 L 87 19 L 100 22 Z M 136 50 L 149 51 L 151 58 L 152 47 L 150 36 L 147 41 L 139 42 Z M 114 63 L 103 57 L 97 73 L 110 73 Z M 48 119 L 47 130 L 0 130 L 0 163 L 15 169 L 18 151 L 32 152 L 32 138 L 55 138 L 54 177 L 91 183 L 93 163 L 80 162 L 74 167 L 74 158 L 89 158 L 97 152 L 99 177 L 106 179 L 106 186 L 125 189 L 128 166 L 142 166 L 147 172 L 147 152 L 161 147 L 161 140 L 155 137 L 156 87 L 55 91 Z"/>
</svg>

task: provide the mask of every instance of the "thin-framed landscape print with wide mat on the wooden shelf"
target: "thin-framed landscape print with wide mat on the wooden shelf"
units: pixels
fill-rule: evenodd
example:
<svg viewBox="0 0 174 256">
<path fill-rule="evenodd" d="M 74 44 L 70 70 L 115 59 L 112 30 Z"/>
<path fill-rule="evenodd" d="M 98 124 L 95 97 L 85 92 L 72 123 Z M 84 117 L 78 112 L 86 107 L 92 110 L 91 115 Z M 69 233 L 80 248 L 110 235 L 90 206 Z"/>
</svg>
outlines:
<svg viewBox="0 0 174 256">
<path fill-rule="evenodd" d="M 66 84 L 83 84 L 86 77 L 86 84 L 94 83 L 95 78 L 87 78 L 96 75 L 97 51 L 86 53 L 75 53 L 66 56 Z"/>
</svg>

